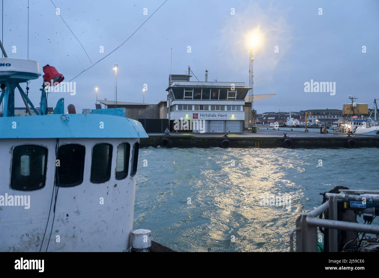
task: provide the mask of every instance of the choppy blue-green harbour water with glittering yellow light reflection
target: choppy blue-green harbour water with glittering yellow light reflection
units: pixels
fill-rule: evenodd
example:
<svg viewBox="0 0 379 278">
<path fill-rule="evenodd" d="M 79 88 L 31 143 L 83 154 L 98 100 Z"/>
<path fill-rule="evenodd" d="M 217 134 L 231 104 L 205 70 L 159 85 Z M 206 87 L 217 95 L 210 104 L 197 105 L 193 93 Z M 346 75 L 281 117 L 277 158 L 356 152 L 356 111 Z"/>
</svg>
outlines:
<svg viewBox="0 0 379 278">
<path fill-rule="evenodd" d="M 178 251 L 288 251 L 296 218 L 321 205 L 320 192 L 337 185 L 378 189 L 378 154 L 377 148 L 143 148 L 133 229 L 148 228 L 155 241 Z M 291 208 L 260 205 L 266 193 L 290 195 Z"/>
</svg>

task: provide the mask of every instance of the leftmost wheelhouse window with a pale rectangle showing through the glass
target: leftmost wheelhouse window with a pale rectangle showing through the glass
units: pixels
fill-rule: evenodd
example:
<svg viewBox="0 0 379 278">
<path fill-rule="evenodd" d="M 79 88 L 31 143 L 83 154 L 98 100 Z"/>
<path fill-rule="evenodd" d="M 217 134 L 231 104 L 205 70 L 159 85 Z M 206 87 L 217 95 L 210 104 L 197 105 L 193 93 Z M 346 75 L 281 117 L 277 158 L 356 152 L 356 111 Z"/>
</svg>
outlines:
<svg viewBox="0 0 379 278">
<path fill-rule="evenodd" d="M 13 149 L 11 188 L 36 190 L 45 186 L 47 148 L 36 145 L 17 146 Z"/>
</svg>

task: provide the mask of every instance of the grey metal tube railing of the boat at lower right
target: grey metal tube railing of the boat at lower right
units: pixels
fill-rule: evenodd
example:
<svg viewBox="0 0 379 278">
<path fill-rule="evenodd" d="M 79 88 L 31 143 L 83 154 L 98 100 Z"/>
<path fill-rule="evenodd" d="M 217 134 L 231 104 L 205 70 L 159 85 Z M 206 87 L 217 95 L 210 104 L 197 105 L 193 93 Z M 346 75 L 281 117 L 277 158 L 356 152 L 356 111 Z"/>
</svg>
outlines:
<svg viewBox="0 0 379 278">
<path fill-rule="evenodd" d="M 366 225 L 337 220 L 338 199 L 361 200 L 362 196 L 345 193 L 326 193 L 326 197 L 329 198 L 329 200 L 321 206 L 313 209 L 313 211 L 301 214 L 301 216 L 296 219 L 296 228 L 290 231 L 290 252 L 293 252 L 293 235 L 295 232 L 297 252 L 317 252 L 318 227 L 329 229 L 329 252 L 338 251 L 338 230 L 379 234 L 378 225 Z M 377 199 L 374 201 L 379 201 L 379 197 L 373 197 L 373 199 Z M 316 218 L 327 210 L 329 210 L 329 219 Z"/>
</svg>

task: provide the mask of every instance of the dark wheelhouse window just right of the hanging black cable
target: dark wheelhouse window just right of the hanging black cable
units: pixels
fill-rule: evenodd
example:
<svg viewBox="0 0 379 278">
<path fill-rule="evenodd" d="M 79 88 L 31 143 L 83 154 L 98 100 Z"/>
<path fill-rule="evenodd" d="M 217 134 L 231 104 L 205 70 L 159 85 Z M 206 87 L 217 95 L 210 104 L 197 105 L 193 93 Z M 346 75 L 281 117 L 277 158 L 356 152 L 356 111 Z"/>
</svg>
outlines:
<svg viewBox="0 0 379 278">
<path fill-rule="evenodd" d="M 77 186 L 83 182 L 85 155 L 86 148 L 82 145 L 66 144 L 58 148 L 56 174 L 59 186 Z"/>
</svg>

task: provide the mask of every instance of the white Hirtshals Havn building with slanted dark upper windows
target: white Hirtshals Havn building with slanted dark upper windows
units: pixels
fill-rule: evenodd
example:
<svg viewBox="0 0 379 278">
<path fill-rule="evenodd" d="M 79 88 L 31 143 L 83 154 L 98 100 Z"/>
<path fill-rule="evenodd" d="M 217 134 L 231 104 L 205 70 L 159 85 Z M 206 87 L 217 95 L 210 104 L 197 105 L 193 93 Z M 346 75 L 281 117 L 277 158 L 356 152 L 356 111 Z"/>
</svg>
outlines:
<svg viewBox="0 0 379 278">
<path fill-rule="evenodd" d="M 190 81 L 188 75 L 169 75 L 167 91 L 170 130 L 174 131 L 174 120 L 179 120 L 179 130 L 200 132 L 193 120 L 203 120 L 203 132 L 241 133 L 245 122 L 245 97 L 250 87 L 244 82 Z M 187 125 L 192 129 L 188 129 Z"/>
</svg>

